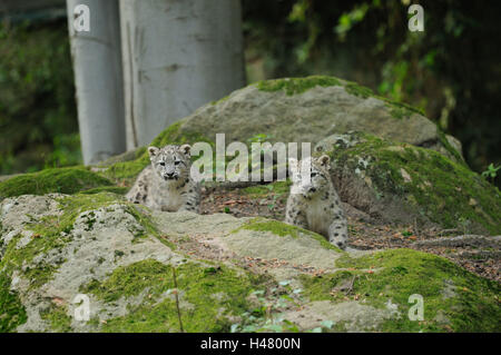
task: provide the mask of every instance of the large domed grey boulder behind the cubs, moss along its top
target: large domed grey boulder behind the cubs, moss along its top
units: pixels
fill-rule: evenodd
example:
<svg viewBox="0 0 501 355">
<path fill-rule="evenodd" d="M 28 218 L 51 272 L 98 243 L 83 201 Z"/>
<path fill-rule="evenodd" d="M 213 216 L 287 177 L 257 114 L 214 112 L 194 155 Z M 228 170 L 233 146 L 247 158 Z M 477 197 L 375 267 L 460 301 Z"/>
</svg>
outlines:
<svg viewBox="0 0 501 355">
<path fill-rule="evenodd" d="M 216 134 L 225 134 L 227 142 L 248 142 L 265 135 L 271 142 L 316 144 L 330 135 L 350 130 L 432 148 L 462 160 L 460 142 L 446 137 L 419 109 L 334 77 L 249 85 L 197 109 L 166 130 L 165 136 L 176 140 L 203 135 L 214 141 Z"/>
</svg>

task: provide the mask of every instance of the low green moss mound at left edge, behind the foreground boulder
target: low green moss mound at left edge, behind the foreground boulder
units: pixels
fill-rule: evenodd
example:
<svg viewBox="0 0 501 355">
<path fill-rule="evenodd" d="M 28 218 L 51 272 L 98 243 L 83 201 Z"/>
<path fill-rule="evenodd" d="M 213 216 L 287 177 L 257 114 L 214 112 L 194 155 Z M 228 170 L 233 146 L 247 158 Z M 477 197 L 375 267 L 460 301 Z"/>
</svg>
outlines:
<svg viewBox="0 0 501 355">
<path fill-rule="evenodd" d="M 19 175 L 1 183 L 0 200 L 20 195 L 75 194 L 109 185 L 111 183 L 108 179 L 82 167 L 46 169 Z"/>
</svg>

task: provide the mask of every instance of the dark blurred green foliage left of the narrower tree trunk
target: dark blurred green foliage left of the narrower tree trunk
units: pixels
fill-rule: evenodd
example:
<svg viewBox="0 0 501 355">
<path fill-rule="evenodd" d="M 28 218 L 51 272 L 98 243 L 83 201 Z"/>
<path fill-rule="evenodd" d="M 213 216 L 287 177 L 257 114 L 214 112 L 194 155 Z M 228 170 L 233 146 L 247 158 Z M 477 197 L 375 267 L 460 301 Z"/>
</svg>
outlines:
<svg viewBox="0 0 501 355">
<path fill-rule="evenodd" d="M 0 22 L 0 174 L 81 160 L 67 26 Z"/>
</svg>

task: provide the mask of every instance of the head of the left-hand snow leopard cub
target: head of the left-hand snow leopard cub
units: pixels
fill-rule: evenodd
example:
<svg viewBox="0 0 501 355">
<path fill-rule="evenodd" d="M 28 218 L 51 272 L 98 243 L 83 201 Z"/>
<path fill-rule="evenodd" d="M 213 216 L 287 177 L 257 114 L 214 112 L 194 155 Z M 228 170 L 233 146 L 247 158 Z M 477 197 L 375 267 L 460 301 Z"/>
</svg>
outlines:
<svg viewBox="0 0 501 355">
<path fill-rule="evenodd" d="M 189 177 L 191 167 L 189 145 L 148 147 L 155 172 L 165 181 L 177 181 Z"/>
</svg>

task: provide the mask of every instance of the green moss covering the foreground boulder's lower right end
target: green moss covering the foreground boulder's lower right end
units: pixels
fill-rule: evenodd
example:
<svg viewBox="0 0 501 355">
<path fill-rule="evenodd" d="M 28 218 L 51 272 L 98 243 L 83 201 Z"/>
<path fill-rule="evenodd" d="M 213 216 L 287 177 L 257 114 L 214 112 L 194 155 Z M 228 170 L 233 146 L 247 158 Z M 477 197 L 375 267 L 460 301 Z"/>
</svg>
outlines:
<svg viewBox="0 0 501 355">
<path fill-rule="evenodd" d="M 402 313 L 400 319 L 387 321 L 382 332 L 499 332 L 501 307 L 498 300 L 501 287 L 498 283 L 471 274 L 453 263 L 431 254 L 411 249 L 392 249 L 353 258 L 343 255 L 337 267 L 347 268 L 322 277 L 302 276 L 304 294 L 312 300 L 331 299 L 341 302 L 345 294 L 332 289 L 357 276 L 353 295 L 360 300 L 384 308 L 391 299 Z M 373 268 L 372 273 L 367 269 Z M 448 283 L 454 287 L 453 297 L 445 297 Z M 407 317 L 409 297 L 423 296 L 424 321 L 412 322 Z M 435 317 L 441 313 L 449 324 Z"/>
</svg>

